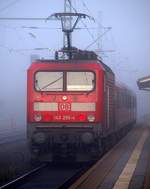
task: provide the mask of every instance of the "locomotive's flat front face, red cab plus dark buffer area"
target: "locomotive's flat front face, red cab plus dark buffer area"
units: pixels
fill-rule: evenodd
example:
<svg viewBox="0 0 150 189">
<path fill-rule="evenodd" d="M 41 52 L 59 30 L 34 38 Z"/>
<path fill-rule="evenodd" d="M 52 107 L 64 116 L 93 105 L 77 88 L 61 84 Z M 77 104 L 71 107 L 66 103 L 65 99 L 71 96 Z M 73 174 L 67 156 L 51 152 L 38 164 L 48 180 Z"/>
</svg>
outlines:
<svg viewBox="0 0 150 189">
<path fill-rule="evenodd" d="M 102 82 L 98 63 L 32 64 L 28 71 L 32 151 L 63 156 L 83 148 L 88 152 L 101 132 Z"/>
</svg>

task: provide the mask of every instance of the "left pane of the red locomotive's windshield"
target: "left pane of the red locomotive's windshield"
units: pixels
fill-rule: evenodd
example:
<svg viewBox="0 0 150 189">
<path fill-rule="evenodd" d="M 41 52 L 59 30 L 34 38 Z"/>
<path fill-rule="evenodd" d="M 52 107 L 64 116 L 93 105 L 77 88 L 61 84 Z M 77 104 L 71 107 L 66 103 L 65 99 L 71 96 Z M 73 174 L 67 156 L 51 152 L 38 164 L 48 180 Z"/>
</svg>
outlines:
<svg viewBox="0 0 150 189">
<path fill-rule="evenodd" d="M 37 91 L 63 91 L 63 72 L 37 72 L 35 89 Z"/>
</svg>

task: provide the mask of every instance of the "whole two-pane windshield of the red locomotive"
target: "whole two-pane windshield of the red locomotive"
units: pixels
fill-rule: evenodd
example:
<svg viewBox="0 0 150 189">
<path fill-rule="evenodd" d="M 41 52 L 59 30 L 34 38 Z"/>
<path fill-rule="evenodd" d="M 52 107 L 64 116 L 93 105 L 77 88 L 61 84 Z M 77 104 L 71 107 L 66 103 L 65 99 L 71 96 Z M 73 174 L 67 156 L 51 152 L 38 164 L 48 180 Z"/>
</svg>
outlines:
<svg viewBox="0 0 150 189">
<path fill-rule="evenodd" d="M 93 72 L 46 72 L 35 74 L 37 91 L 92 91 L 95 87 Z"/>
</svg>

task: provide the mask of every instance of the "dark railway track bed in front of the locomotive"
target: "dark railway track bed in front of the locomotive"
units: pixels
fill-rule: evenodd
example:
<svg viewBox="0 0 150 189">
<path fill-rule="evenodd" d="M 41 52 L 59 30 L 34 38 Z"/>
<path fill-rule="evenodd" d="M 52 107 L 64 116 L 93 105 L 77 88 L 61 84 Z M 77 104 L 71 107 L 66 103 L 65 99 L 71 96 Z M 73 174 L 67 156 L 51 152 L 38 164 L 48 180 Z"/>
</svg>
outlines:
<svg viewBox="0 0 150 189">
<path fill-rule="evenodd" d="M 41 165 L 0 186 L 0 189 L 68 188 L 91 165 Z"/>
</svg>

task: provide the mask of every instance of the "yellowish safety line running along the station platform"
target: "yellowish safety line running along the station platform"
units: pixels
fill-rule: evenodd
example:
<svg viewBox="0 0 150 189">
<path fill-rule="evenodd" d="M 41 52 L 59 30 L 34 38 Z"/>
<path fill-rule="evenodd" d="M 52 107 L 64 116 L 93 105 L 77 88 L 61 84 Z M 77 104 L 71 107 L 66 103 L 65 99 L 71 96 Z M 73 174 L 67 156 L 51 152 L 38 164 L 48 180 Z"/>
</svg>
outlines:
<svg viewBox="0 0 150 189">
<path fill-rule="evenodd" d="M 134 148 L 130 159 L 128 160 L 126 166 L 124 167 L 122 173 L 120 174 L 118 180 L 116 181 L 113 189 L 127 189 L 129 187 L 130 181 L 132 179 L 133 173 L 135 171 L 137 162 L 140 158 L 142 148 L 148 137 L 148 130 L 144 131 L 142 137 Z"/>
</svg>

